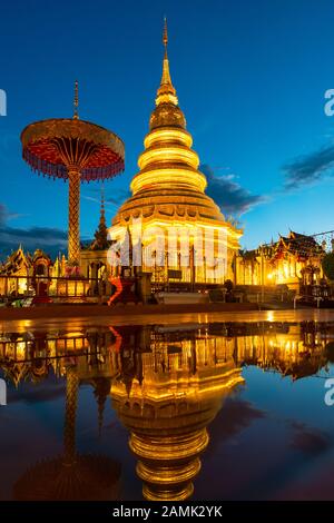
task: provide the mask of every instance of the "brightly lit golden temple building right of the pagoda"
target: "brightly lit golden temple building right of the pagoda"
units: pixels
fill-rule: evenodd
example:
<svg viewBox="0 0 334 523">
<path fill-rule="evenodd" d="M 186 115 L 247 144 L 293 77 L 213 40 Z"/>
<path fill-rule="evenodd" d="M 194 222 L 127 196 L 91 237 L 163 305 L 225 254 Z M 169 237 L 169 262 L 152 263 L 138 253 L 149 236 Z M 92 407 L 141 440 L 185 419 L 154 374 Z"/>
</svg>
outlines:
<svg viewBox="0 0 334 523">
<path fill-rule="evenodd" d="M 324 253 L 312 236 L 291 231 L 276 243 L 240 251 L 235 262 L 235 280 L 238 285 L 286 284 L 307 294 L 305 287 L 320 285 L 324 278 Z"/>
</svg>

